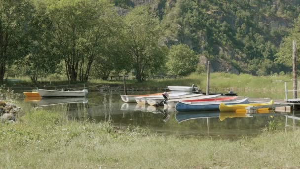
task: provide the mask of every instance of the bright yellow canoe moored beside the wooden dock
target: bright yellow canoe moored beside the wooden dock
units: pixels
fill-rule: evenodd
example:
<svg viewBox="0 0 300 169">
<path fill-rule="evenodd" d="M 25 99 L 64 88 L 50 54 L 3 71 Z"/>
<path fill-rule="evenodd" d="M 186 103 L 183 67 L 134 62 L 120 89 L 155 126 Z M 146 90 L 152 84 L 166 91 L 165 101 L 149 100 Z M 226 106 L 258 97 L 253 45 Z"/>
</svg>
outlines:
<svg viewBox="0 0 300 169">
<path fill-rule="evenodd" d="M 246 107 L 248 106 L 265 106 L 265 105 L 271 105 L 274 104 L 274 101 L 271 100 L 268 103 L 249 103 L 249 104 L 235 104 L 235 105 L 225 105 L 224 103 L 221 103 L 219 108 L 221 112 L 235 112 L 235 113 L 246 113 Z M 262 108 L 258 109 L 257 112 L 265 112 L 266 110 L 269 110 L 269 108 Z"/>
</svg>

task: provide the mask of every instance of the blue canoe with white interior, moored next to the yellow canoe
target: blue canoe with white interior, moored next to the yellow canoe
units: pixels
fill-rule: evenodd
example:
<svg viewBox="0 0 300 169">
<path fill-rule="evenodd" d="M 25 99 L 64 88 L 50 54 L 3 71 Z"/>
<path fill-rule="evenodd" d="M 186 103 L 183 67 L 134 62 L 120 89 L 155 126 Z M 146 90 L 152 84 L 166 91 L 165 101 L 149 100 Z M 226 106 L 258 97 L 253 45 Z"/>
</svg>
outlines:
<svg viewBox="0 0 300 169">
<path fill-rule="evenodd" d="M 219 105 L 221 102 L 205 102 L 205 103 L 188 103 L 184 101 L 179 101 L 175 109 L 179 112 L 190 112 L 190 111 L 211 111 L 211 110 L 220 110 Z M 228 101 L 223 102 L 225 105 L 233 105 L 233 104 L 247 104 L 249 103 L 248 98 L 244 98 L 242 100 L 237 101 Z"/>
</svg>

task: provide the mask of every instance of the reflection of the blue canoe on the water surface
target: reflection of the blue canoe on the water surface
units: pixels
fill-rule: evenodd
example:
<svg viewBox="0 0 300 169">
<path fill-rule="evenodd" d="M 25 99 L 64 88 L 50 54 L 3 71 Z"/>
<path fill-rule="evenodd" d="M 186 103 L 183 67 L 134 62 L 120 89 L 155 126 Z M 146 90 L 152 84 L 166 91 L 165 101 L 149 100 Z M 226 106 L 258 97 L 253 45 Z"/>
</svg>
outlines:
<svg viewBox="0 0 300 169">
<path fill-rule="evenodd" d="M 179 112 L 175 115 L 175 119 L 178 123 L 191 120 L 191 119 L 202 119 L 202 118 L 219 118 L 220 111 L 211 112 Z"/>
</svg>

